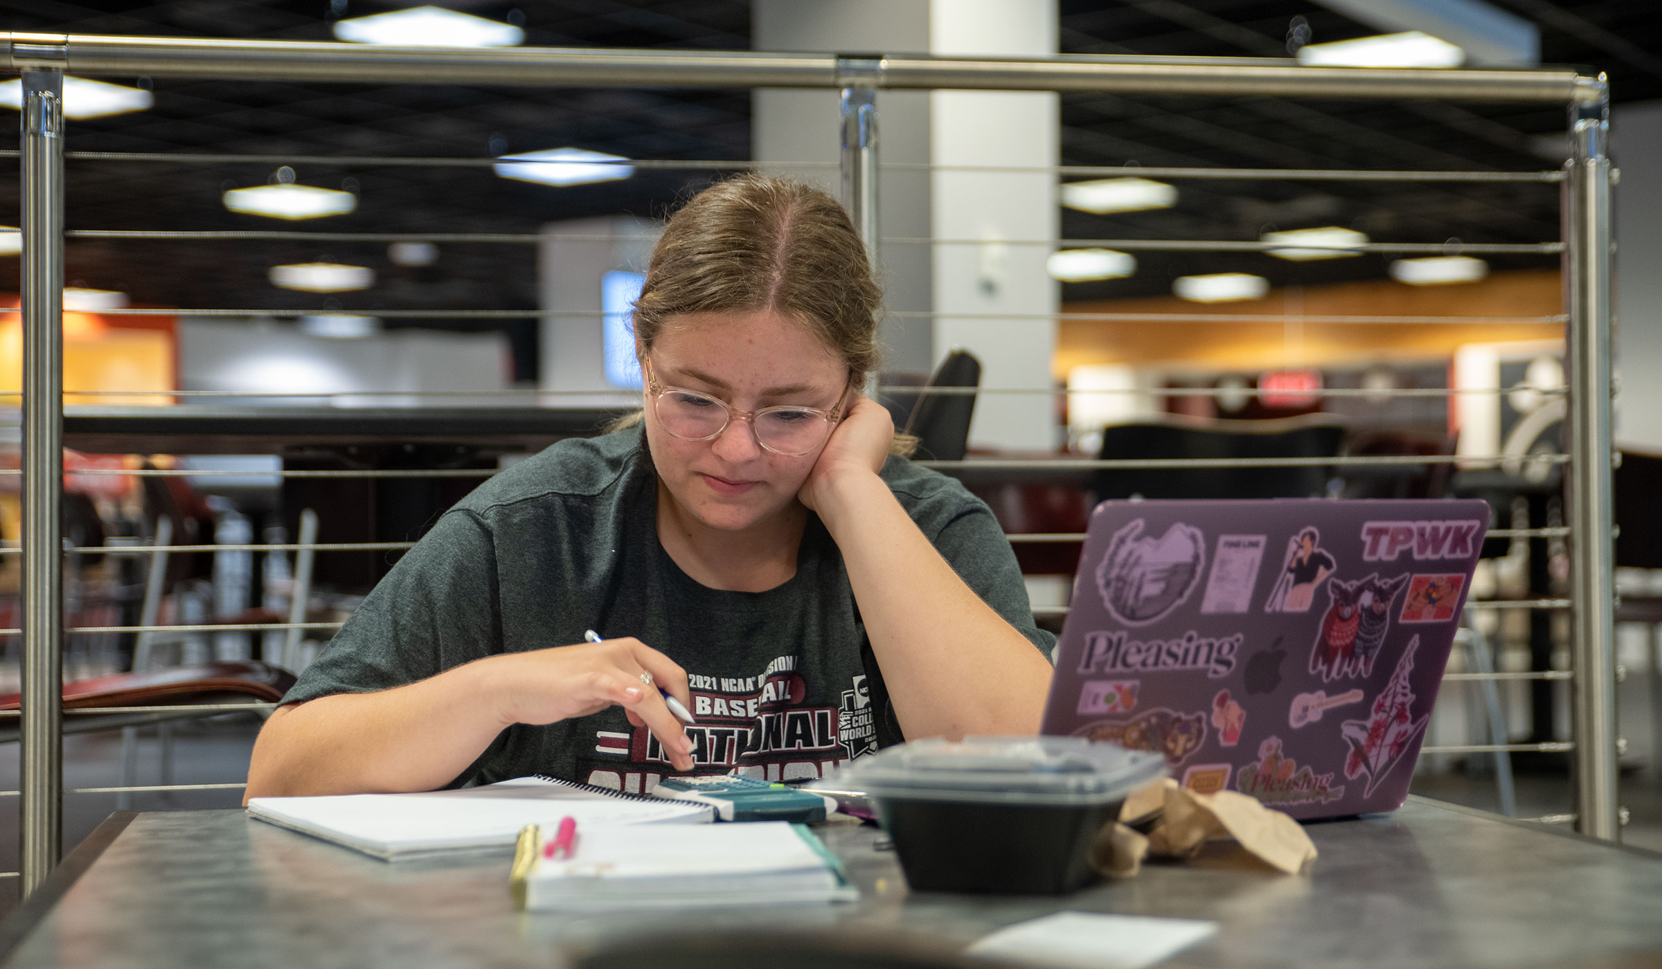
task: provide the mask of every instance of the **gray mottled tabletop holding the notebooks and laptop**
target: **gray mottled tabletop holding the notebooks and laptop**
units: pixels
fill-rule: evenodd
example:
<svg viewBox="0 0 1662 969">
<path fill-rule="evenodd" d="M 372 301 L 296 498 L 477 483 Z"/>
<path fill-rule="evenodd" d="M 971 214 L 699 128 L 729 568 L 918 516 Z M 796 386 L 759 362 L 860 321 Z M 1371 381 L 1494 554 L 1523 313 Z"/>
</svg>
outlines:
<svg viewBox="0 0 1662 969">
<path fill-rule="evenodd" d="M 1306 829 L 1321 858 L 1305 876 L 1217 843 L 1074 896 L 991 898 L 911 894 L 874 829 L 831 826 L 859 903 L 575 916 L 515 912 L 507 856 L 389 864 L 241 811 L 146 813 L 101 851 L 95 834 L 66 866 L 85 871 L 0 937 L 17 939 L 7 964 L 27 967 L 560 966 L 573 949 L 638 939 L 643 924 L 904 932 L 951 947 L 1074 909 L 1218 921 L 1177 957 L 1185 966 L 1662 964 L 1659 854 L 1418 798 Z"/>
</svg>

